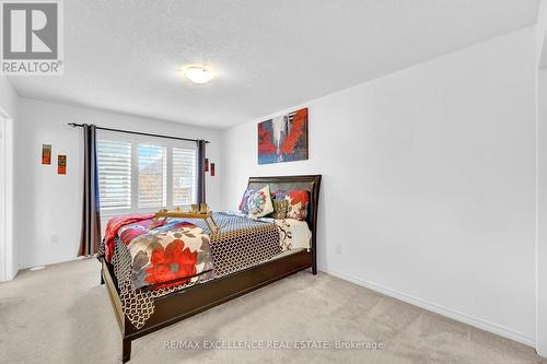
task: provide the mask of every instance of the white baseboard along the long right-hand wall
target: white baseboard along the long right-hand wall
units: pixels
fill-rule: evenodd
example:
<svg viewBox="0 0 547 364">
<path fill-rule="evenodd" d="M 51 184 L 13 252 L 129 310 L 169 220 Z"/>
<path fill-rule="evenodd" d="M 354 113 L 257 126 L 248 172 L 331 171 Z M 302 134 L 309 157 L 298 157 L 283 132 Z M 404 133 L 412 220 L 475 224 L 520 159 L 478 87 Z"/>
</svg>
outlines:
<svg viewBox="0 0 547 364">
<path fill-rule="evenodd" d="M 459 313 L 459 312 L 454 310 L 454 309 L 450 309 L 450 308 L 440 306 L 438 304 L 434 304 L 434 303 L 408 295 L 406 293 L 401 293 L 401 292 L 382 286 L 380 284 L 364 281 L 362 279 L 359 279 L 359 278 L 350 275 L 350 274 L 340 273 L 340 272 L 334 271 L 331 269 L 325 269 L 325 268 L 321 268 L 321 267 L 319 267 L 319 270 L 324 273 L 327 273 L 327 274 L 330 274 L 334 277 L 338 277 L 342 280 L 346 280 L 346 281 L 356 283 L 358 285 L 364 286 L 366 289 L 370 289 L 372 291 L 376 291 L 379 293 L 385 294 L 386 296 L 391 296 L 391 297 L 404 301 L 406 303 L 409 303 L 409 304 L 418 306 L 420 308 L 430 310 L 432 313 L 435 313 L 435 314 L 439 314 L 442 316 L 446 316 L 446 317 L 452 318 L 456 321 L 461 321 L 461 322 L 474 326 L 476 328 L 479 328 L 481 330 L 489 331 L 489 332 L 499 334 L 501 337 L 517 341 L 517 342 L 523 343 L 525 345 L 535 348 L 536 340 L 534 338 L 531 338 L 531 337 L 522 333 L 522 332 L 509 329 L 507 327 L 503 327 L 503 326 L 500 326 L 500 325 L 497 325 L 497 324 L 493 324 L 493 322 L 490 322 L 490 321 L 487 321 L 487 320 L 484 320 L 484 319 L 480 319 L 477 317 L 469 316 L 467 314 Z"/>
</svg>

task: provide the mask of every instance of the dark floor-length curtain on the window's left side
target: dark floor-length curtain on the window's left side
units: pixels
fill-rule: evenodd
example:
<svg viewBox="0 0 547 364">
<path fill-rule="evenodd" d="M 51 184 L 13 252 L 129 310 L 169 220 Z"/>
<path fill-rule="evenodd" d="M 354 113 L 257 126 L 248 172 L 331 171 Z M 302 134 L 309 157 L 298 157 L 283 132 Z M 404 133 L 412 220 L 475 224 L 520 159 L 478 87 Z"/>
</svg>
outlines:
<svg viewBox="0 0 547 364">
<path fill-rule="evenodd" d="M 98 172 L 96 155 L 96 128 L 83 125 L 83 210 L 82 234 L 78 256 L 91 256 L 101 245 L 101 214 L 98 202 Z"/>
</svg>

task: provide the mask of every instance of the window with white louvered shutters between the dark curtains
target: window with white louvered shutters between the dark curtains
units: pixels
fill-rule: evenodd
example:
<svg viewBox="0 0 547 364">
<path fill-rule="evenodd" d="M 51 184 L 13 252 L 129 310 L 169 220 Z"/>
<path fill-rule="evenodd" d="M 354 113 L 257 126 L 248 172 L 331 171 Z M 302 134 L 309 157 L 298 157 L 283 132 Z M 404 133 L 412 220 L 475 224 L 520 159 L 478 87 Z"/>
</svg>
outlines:
<svg viewBox="0 0 547 364">
<path fill-rule="evenodd" d="M 195 203 L 195 143 L 131 137 L 120 138 L 120 134 L 103 131 L 97 133 L 103 214 L 155 212 Z"/>
</svg>

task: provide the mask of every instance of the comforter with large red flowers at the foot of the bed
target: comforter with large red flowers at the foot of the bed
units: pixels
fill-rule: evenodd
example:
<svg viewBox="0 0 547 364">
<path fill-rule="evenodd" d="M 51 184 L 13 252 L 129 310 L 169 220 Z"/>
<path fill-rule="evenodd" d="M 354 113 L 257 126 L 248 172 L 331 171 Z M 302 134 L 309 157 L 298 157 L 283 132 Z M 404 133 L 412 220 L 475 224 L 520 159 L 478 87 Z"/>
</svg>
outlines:
<svg viewBox="0 0 547 364">
<path fill-rule="evenodd" d="M 132 216 L 128 222 L 110 220 L 106 230 L 112 233 L 116 224 L 114 235 L 129 250 L 135 289 L 168 287 L 213 274 L 209 235 L 200 227 L 177 219 L 154 223 Z"/>
</svg>

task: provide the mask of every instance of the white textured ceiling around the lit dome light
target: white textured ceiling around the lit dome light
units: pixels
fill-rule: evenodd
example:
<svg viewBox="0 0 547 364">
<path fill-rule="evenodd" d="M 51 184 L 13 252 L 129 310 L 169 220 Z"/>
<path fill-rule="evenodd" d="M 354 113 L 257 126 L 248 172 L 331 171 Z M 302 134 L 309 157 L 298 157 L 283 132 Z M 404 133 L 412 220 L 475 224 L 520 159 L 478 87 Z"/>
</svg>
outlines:
<svg viewBox="0 0 547 364">
<path fill-rule="evenodd" d="M 21 96 L 226 128 L 507 34 L 536 0 L 66 0 L 65 75 Z M 194 85 L 177 72 L 206 63 Z"/>
</svg>

